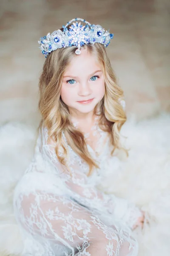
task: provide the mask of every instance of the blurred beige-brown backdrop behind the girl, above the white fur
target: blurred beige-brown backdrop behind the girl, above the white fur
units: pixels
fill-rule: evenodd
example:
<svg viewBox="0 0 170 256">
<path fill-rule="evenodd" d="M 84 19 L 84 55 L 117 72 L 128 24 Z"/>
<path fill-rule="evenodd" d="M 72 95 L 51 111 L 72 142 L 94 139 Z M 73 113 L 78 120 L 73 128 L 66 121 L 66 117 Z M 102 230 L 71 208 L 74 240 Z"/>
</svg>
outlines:
<svg viewBox="0 0 170 256">
<path fill-rule="evenodd" d="M 0 0 L 0 123 L 37 121 L 38 40 L 74 17 L 110 28 L 107 48 L 127 114 L 170 111 L 168 0 Z"/>
</svg>

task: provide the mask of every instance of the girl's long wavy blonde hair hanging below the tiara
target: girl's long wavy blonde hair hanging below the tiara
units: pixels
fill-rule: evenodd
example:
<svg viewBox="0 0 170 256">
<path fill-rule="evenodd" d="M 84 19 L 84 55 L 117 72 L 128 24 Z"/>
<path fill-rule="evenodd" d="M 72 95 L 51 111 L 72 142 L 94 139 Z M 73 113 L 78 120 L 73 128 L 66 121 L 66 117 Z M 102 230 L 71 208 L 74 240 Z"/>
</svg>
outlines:
<svg viewBox="0 0 170 256">
<path fill-rule="evenodd" d="M 120 145 L 120 129 L 126 121 L 126 115 L 120 104 L 124 99 L 123 90 L 116 83 L 111 63 L 102 44 L 84 45 L 91 54 L 95 54 L 101 64 L 105 77 L 105 95 L 96 105 L 94 113 L 100 109 L 99 127 L 108 132 L 111 137 L 111 155 Z M 60 163 L 67 166 L 68 148 L 62 140 L 64 132 L 68 145 L 83 159 L 89 166 L 89 174 L 94 167 L 99 168 L 96 161 L 88 152 L 87 145 L 82 132 L 74 128 L 69 118 L 68 106 L 60 97 L 62 78 L 64 72 L 75 56 L 76 47 L 57 49 L 51 52 L 43 65 L 39 81 L 40 100 L 39 110 L 42 116 L 40 127 L 46 126 L 48 138 L 55 142 L 55 152 Z M 63 149 L 63 155 L 59 155 L 59 148 Z"/>
</svg>

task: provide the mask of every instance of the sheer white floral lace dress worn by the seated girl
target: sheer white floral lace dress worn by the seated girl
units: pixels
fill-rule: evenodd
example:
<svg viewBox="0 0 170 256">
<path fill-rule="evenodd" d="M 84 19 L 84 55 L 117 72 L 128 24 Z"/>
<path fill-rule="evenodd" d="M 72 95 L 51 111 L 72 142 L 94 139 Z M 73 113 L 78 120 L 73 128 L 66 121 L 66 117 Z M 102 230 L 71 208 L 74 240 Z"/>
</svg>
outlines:
<svg viewBox="0 0 170 256">
<path fill-rule="evenodd" d="M 91 136 L 97 150 L 88 144 Z M 116 158 L 110 156 L 106 133 L 97 122 L 85 137 L 100 169 L 88 177 L 87 164 L 67 143 L 71 177 L 57 160 L 54 145 L 47 144 L 47 129 L 39 134 L 33 160 L 14 191 L 23 256 L 137 256 L 131 228 L 142 213 L 125 199 L 97 189 Z"/>
</svg>

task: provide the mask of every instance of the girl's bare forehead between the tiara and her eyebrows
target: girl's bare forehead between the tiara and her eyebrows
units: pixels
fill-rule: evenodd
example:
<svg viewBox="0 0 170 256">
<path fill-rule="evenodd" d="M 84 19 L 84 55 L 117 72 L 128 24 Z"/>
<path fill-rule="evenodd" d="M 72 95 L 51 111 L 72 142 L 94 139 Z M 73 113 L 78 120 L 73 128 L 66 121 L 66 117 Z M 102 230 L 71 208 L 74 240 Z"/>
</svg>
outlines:
<svg viewBox="0 0 170 256">
<path fill-rule="evenodd" d="M 91 54 L 87 49 L 81 49 L 81 54 L 74 56 L 65 70 L 64 76 L 83 76 L 101 69 L 101 64 L 96 55 Z"/>
</svg>

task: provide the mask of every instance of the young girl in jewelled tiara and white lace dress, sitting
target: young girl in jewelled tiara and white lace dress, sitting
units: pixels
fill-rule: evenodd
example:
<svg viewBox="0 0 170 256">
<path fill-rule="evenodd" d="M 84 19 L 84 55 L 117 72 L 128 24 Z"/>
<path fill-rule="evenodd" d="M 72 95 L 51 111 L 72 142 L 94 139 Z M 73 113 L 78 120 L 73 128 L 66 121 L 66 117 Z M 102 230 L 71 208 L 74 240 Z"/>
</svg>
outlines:
<svg viewBox="0 0 170 256">
<path fill-rule="evenodd" d="M 23 255 L 138 254 L 132 230 L 142 227 L 143 212 L 97 189 L 112 169 L 126 121 L 123 91 L 105 51 L 111 38 L 76 18 L 39 41 L 46 57 L 42 120 L 34 158 L 14 192 Z"/>
</svg>

